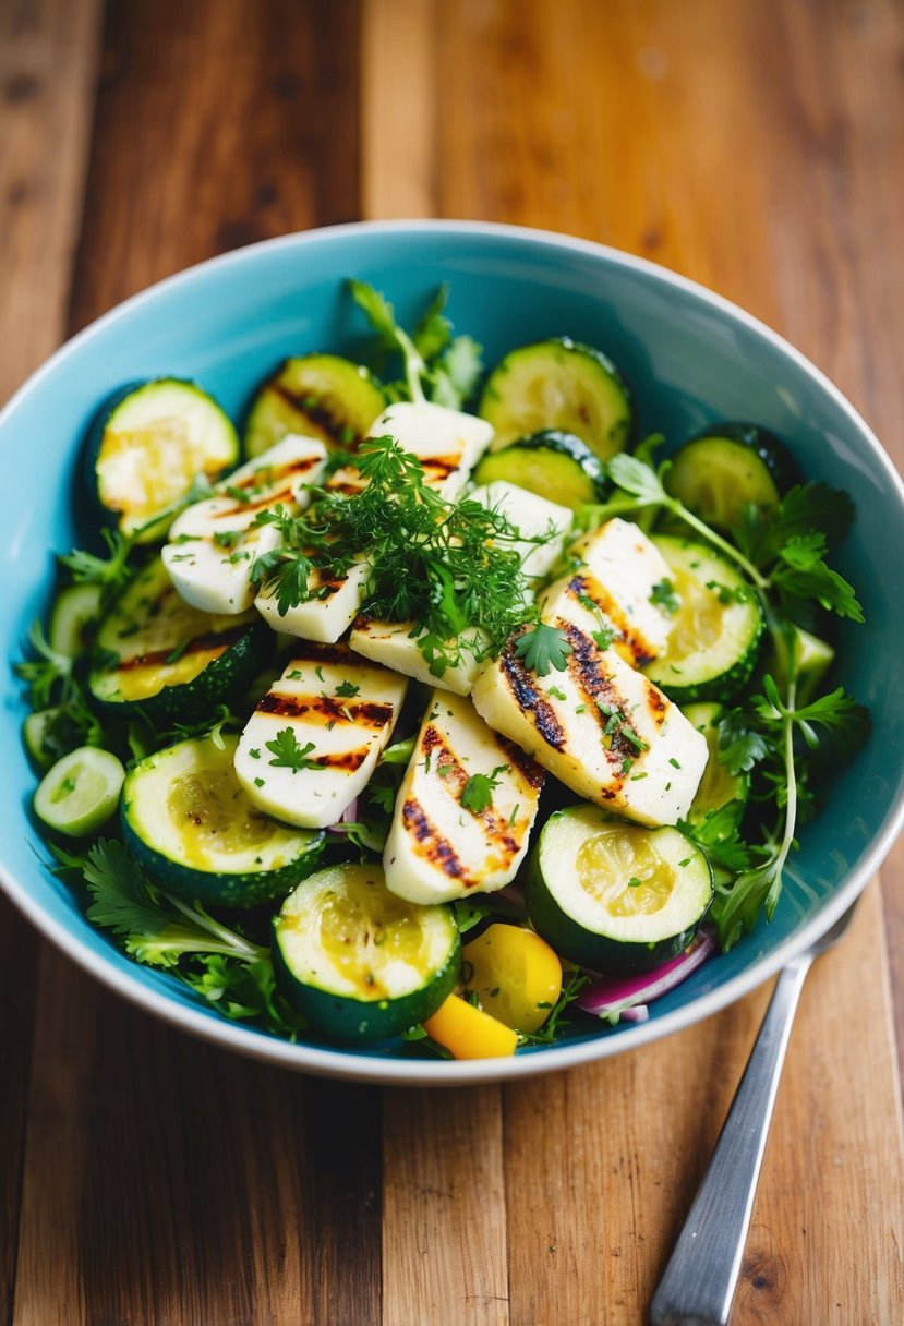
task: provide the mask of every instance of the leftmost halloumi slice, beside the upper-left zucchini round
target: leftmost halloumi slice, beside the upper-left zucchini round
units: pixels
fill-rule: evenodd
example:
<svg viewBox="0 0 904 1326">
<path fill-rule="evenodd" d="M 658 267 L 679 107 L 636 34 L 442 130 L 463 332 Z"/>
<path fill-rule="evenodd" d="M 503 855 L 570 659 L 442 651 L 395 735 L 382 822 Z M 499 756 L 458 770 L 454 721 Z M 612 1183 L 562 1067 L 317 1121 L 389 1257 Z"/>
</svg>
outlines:
<svg viewBox="0 0 904 1326">
<path fill-rule="evenodd" d="M 254 590 L 254 557 L 276 548 L 280 533 L 257 525 L 261 512 L 289 514 L 308 504 L 306 485 L 323 469 L 326 448 L 290 435 L 219 483 L 211 497 L 187 507 L 172 522 L 163 565 L 176 590 L 204 613 L 244 613 Z"/>
</svg>

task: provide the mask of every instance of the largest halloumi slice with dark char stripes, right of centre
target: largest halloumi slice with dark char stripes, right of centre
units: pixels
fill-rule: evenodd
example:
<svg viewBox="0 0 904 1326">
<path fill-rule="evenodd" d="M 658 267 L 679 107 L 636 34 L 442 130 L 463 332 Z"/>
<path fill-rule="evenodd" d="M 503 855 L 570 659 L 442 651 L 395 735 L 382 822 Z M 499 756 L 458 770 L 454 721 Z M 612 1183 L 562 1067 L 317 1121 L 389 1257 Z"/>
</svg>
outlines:
<svg viewBox="0 0 904 1326">
<path fill-rule="evenodd" d="M 705 737 L 620 654 L 555 625 L 571 646 L 566 670 L 537 676 L 514 636 L 475 683 L 475 708 L 579 796 L 638 823 L 675 823 L 703 777 Z"/>
</svg>

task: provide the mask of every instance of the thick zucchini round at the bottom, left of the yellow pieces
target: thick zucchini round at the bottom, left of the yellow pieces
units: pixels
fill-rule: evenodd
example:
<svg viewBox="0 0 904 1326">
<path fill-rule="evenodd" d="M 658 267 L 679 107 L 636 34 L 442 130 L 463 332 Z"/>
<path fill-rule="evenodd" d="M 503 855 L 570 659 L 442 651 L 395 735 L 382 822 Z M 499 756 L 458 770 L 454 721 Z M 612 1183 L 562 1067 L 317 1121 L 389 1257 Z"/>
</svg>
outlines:
<svg viewBox="0 0 904 1326">
<path fill-rule="evenodd" d="M 363 914 L 374 953 L 391 935 L 394 918 L 420 916 L 433 931 L 431 959 L 415 988 L 380 993 L 378 976 L 371 993 L 362 973 L 350 983 L 353 988 L 357 983 L 355 993 L 337 988 L 322 936 L 335 936 L 337 926 L 359 926 L 362 888 L 372 888 L 375 895 L 372 910 Z M 339 1041 L 380 1041 L 423 1022 L 452 992 L 461 967 L 461 936 L 451 910 L 395 898 L 379 865 L 331 866 L 301 883 L 273 919 L 270 947 L 276 981 L 288 1001 L 315 1030 Z"/>
</svg>

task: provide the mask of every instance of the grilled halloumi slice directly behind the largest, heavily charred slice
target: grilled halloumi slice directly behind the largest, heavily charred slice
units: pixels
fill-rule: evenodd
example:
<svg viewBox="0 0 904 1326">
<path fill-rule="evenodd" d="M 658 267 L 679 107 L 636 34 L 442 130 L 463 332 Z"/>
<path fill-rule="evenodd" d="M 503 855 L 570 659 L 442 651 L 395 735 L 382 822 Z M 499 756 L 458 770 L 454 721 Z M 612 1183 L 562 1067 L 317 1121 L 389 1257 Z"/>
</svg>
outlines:
<svg viewBox="0 0 904 1326">
<path fill-rule="evenodd" d="M 657 658 L 672 618 L 667 606 L 655 601 L 655 591 L 656 586 L 668 587 L 672 573 L 655 544 L 638 525 L 616 516 L 571 552 L 574 570 L 539 595 L 543 617 L 565 618 L 586 633 L 610 627 L 615 633 L 612 647 L 632 667 Z"/>
</svg>

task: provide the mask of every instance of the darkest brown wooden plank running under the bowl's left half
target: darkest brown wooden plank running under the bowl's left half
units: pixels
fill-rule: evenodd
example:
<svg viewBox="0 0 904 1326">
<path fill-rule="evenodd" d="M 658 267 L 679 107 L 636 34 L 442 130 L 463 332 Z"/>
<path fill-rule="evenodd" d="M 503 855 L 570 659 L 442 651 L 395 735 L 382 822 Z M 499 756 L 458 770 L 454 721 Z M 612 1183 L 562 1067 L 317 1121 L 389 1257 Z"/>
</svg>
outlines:
<svg viewBox="0 0 904 1326">
<path fill-rule="evenodd" d="M 72 329 L 223 248 L 357 212 L 357 21 L 110 7 Z M 38 991 L 8 1319 L 379 1319 L 378 1093 L 212 1050 L 50 949 Z"/>
</svg>

